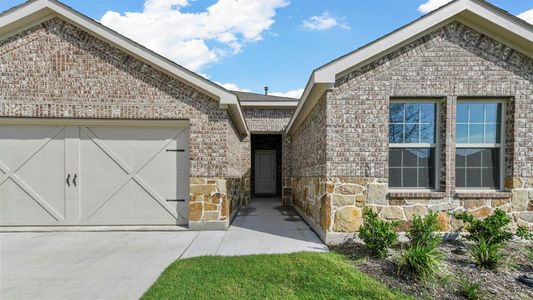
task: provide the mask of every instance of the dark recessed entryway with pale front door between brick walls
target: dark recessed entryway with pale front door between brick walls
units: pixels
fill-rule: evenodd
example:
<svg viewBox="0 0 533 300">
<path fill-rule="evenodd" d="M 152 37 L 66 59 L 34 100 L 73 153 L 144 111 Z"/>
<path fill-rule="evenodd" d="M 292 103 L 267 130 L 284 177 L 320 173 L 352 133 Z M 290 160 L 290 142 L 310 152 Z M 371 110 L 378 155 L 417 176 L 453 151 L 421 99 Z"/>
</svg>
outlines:
<svg viewBox="0 0 533 300">
<path fill-rule="evenodd" d="M 281 135 L 252 134 L 252 193 L 281 195 Z"/>
</svg>

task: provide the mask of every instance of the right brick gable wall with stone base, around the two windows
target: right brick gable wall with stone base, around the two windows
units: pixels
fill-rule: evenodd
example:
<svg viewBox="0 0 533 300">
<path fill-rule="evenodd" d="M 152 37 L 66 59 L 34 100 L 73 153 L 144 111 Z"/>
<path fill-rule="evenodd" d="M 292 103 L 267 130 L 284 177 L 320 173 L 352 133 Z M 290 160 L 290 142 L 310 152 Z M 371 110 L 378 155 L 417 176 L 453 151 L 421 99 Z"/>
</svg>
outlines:
<svg viewBox="0 0 533 300">
<path fill-rule="evenodd" d="M 395 97 L 440 99 L 436 192 L 388 190 L 388 106 Z M 503 192 L 455 189 L 455 107 L 468 97 L 507 100 Z M 455 231 L 461 223 L 450 212 L 482 218 L 495 208 L 513 217 L 513 227 L 533 230 L 532 58 L 454 22 L 339 78 L 325 98 L 293 135 L 292 151 L 301 162 L 293 163 L 292 186 L 295 206 L 320 224 L 329 242 L 353 236 L 363 207 L 401 220 L 402 231 L 413 215 L 430 210 L 439 213 L 445 231 Z M 326 160 L 326 171 L 302 167 L 313 157 Z"/>
</svg>

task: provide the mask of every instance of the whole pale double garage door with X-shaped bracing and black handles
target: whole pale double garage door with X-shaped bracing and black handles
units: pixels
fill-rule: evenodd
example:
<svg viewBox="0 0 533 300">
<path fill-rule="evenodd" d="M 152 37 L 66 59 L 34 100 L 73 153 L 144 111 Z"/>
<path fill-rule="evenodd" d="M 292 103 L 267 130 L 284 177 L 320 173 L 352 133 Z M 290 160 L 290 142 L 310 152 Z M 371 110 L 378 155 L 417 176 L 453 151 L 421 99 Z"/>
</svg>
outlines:
<svg viewBox="0 0 533 300">
<path fill-rule="evenodd" d="M 0 125 L 0 225 L 187 224 L 188 130 Z"/>
</svg>

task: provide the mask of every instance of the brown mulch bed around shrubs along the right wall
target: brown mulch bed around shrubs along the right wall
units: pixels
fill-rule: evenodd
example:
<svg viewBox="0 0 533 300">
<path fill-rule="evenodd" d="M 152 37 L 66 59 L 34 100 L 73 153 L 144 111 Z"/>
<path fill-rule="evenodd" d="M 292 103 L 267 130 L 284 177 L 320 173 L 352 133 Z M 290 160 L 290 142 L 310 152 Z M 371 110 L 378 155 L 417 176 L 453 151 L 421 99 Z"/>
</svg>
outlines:
<svg viewBox="0 0 533 300">
<path fill-rule="evenodd" d="M 533 272 L 533 262 L 528 261 L 524 243 L 509 243 L 504 249 L 508 254 L 497 271 L 480 270 L 472 263 L 461 241 L 444 242 L 440 250 L 444 255 L 441 269 L 433 279 L 419 281 L 396 274 L 396 261 L 401 253 L 400 245 L 386 259 L 370 258 L 364 245 L 344 244 L 333 250 L 347 255 L 362 272 L 384 284 L 407 294 L 425 299 L 461 299 L 465 282 L 479 283 L 479 299 L 533 299 L 533 288 L 517 281 L 527 272 Z"/>
</svg>

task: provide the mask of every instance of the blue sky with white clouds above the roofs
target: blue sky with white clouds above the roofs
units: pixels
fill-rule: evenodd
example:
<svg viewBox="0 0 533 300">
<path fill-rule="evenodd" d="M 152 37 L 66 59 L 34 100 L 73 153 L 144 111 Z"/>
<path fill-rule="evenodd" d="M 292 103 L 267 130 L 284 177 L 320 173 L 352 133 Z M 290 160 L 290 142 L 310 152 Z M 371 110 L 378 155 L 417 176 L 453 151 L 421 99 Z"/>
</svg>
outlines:
<svg viewBox="0 0 533 300">
<path fill-rule="evenodd" d="M 450 0 L 63 0 L 233 90 L 299 97 L 311 72 Z M 0 11 L 24 0 L 0 0 Z M 491 0 L 533 24 L 532 0 Z"/>
</svg>

